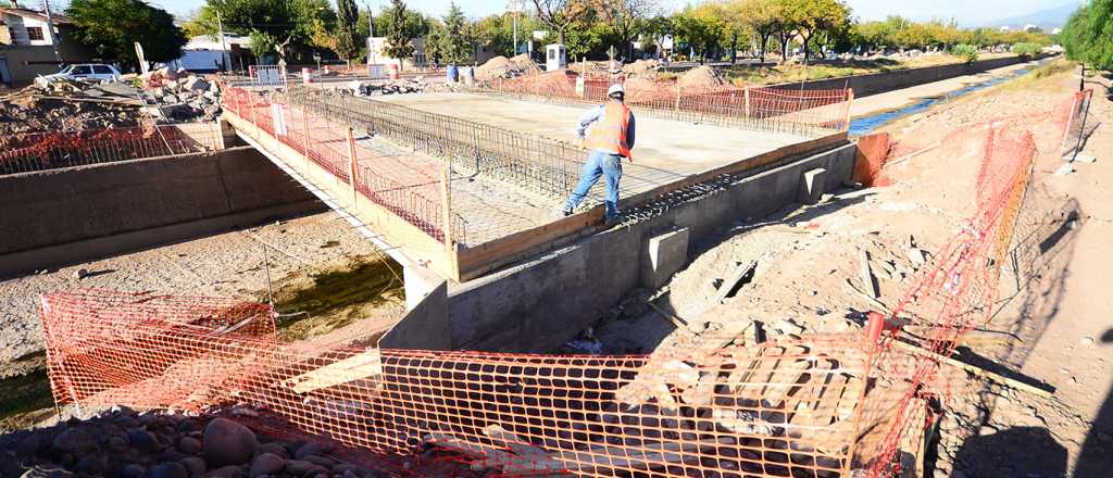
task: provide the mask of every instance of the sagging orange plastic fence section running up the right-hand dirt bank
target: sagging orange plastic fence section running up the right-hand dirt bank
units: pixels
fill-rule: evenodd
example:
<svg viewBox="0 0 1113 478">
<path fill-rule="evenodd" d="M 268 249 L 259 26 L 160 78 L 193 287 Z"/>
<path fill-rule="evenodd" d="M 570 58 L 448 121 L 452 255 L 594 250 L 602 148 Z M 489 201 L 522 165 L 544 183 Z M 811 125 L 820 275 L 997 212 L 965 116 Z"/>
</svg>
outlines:
<svg viewBox="0 0 1113 478">
<path fill-rule="evenodd" d="M 998 272 L 1012 242 L 1036 146 L 1030 131 L 1008 122 L 972 131 L 963 139 L 944 152 L 981 141 L 973 198 L 977 209 L 929 267 L 920 270 L 887 317 L 894 327 L 883 336 L 873 372 L 878 387 L 889 391 L 866 400 L 864 408 L 874 415 L 863 420 L 863 426 L 886 431 L 861 444 L 857 456 L 868 464 L 871 476 L 887 477 L 900 469 L 903 440 L 928 426 L 925 402 L 947 394 L 934 382 L 942 360 L 954 353 L 963 335 L 985 325 L 995 311 Z M 909 347 L 897 338 L 899 323 L 925 326 L 918 345 Z"/>
</svg>

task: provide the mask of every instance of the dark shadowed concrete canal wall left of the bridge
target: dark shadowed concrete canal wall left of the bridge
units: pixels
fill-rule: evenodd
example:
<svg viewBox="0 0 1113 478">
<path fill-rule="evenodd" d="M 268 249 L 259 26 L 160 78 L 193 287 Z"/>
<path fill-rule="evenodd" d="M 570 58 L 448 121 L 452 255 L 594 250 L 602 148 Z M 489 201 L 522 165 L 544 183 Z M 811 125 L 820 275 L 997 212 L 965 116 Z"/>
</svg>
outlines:
<svg viewBox="0 0 1113 478">
<path fill-rule="evenodd" d="M 325 209 L 252 148 L 0 177 L 0 277 Z"/>
</svg>

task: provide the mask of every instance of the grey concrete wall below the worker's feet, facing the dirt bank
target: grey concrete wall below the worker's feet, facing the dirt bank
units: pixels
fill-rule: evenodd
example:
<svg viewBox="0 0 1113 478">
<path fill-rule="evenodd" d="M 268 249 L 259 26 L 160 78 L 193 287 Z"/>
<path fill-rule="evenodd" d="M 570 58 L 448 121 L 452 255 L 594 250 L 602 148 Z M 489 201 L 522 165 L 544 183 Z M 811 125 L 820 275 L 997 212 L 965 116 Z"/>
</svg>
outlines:
<svg viewBox="0 0 1113 478">
<path fill-rule="evenodd" d="M 541 258 L 462 285 L 449 297 L 451 348 L 546 351 L 613 307 L 641 279 L 643 242 L 658 231 L 689 228 L 692 242 L 732 221 L 796 202 L 805 172 L 825 168 L 824 191 L 850 180 L 857 156 L 846 145 L 754 173 L 660 216 L 601 232 Z"/>
</svg>

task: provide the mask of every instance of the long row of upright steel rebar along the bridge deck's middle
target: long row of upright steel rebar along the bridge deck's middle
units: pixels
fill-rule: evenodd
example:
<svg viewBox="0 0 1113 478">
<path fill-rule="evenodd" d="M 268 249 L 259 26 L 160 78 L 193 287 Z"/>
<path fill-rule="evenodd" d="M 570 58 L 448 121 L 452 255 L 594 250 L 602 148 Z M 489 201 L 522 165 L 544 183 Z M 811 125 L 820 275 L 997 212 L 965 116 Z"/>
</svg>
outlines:
<svg viewBox="0 0 1113 478">
<path fill-rule="evenodd" d="M 568 197 L 587 156 L 568 142 L 385 101 L 304 88 L 292 88 L 286 96 L 292 104 L 444 159 L 453 169 L 552 198 Z"/>
</svg>

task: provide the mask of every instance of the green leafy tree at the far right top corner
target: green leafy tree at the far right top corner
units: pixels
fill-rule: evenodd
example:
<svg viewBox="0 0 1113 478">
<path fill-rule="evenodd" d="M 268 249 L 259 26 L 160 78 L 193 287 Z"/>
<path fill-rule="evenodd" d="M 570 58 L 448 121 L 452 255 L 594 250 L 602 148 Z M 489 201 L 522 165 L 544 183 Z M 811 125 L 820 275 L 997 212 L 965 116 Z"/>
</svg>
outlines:
<svg viewBox="0 0 1113 478">
<path fill-rule="evenodd" d="M 1091 0 L 1080 7 L 1061 34 L 1067 58 L 1113 70 L 1113 0 Z"/>
</svg>

